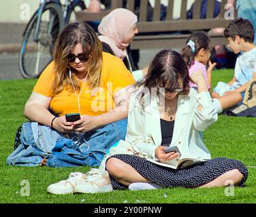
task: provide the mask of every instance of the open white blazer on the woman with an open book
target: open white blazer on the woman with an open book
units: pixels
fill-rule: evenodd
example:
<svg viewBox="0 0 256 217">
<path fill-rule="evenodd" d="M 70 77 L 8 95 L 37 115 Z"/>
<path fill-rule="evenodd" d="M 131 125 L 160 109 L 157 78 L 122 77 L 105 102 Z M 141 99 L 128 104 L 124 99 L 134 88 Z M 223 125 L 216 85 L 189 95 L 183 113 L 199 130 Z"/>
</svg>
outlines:
<svg viewBox="0 0 256 217">
<path fill-rule="evenodd" d="M 133 93 L 130 98 L 125 141 L 121 140 L 112 146 L 102 164 L 112 155 L 129 154 L 167 166 L 166 163 L 159 163 L 155 158 L 155 149 L 161 145 L 162 140 L 159 98 L 151 97 L 149 92 L 145 94 L 143 109 L 141 100 L 138 100 L 140 90 L 142 88 Z M 202 111 L 198 110 L 199 104 L 202 105 Z M 197 162 L 210 159 L 210 152 L 202 140 L 202 131 L 217 119 L 217 111 L 212 104 L 209 92 L 198 94 L 191 88 L 188 96 L 179 95 L 171 146 L 178 146 L 181 156 L 175 160 L 191 158 Z"/>
</svg>

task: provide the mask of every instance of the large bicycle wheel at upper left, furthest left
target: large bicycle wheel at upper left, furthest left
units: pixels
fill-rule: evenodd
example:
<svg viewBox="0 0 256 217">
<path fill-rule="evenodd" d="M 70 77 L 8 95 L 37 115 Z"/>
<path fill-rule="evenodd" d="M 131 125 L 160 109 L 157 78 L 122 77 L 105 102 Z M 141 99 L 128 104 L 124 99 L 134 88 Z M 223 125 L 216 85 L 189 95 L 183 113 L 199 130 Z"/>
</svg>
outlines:
<svg viewBox="0 0 256 217">
<path fill-rule="evenodd" d="M 36 78 L 52 61 L 54 43 L 64 26 L 62 9 L 48 3 L 42 13 L 38 40 L 34 41 L 37 13 L 31 18 L 20 47 L 19 66 L 22 77 Z"/>
</svg>

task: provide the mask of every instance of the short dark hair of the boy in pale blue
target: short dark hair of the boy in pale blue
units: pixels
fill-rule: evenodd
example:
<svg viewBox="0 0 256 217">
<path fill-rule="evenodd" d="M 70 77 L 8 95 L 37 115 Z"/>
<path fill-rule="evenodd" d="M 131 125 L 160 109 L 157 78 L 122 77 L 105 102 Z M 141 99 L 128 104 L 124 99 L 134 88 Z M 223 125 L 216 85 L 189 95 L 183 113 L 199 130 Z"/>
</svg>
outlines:
<svg viewBox="0 0 256 217">
<path fill-rule="evenodd" d="M 244 39 L 245 42 L 253 43 L 255 33 L 251 21 L 243 18 L 232 20 L 224 30 L 224 37 L 226 39 L 231 37 L 235 41 L 236 35 Z"/>
</svg>

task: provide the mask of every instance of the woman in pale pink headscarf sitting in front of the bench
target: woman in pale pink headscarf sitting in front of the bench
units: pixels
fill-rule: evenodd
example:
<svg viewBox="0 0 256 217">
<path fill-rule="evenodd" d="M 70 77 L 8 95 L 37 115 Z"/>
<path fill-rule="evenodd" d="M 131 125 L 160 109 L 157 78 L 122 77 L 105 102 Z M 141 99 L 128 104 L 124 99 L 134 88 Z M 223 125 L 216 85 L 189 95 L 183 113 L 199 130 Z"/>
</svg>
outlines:
<svg viewBox="0 0 256 217">
<path fill-rule="evenodd" d="M 142 79 L 147 69 L 137 70 L 129 50 L 129 43 L 138 34 L 137 22 L 138 17 L 133 12 L 128 9 L 117 8 L 103 17 L 98 27 L 103 52 L 121 58 L 127 69 L 132 72 L 135 81 Z"/>
</svg>

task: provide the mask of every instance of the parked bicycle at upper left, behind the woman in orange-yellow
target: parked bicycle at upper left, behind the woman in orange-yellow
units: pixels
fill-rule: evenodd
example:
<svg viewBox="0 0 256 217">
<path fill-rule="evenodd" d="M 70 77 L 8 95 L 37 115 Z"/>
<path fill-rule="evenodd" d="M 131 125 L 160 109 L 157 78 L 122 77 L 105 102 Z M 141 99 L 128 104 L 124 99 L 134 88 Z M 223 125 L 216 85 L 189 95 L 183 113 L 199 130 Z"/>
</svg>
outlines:
<svg viewBox="0 0 256 217">
<path fill-rule="evenodd" d="M 71 15 L 75 8 L 84 9 L 84 2 L 82 0 L 39 1 L 37 10 L 22 33 L 23 40 L 19 56 L 22 77 L 38 77 L 48 64 L 48 60 L 52 60 L 57 34 L 65 24 L 69 23 L 69 18 L 73 18 Z M 29 47 L 33 47 L 33 50 L 29 50 Z M 28 64 L 30 60 L 31 64 Z"/>
</svg>

